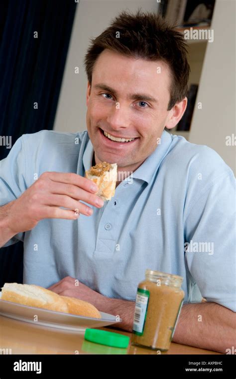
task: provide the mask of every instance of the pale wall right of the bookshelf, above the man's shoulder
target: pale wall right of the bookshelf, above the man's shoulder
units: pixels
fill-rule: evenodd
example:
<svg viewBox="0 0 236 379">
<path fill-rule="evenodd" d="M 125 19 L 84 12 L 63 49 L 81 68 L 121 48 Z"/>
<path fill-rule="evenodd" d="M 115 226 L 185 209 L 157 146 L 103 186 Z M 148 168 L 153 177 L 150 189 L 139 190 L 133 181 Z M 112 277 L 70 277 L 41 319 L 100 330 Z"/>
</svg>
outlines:
<svg viewBox="0 0 236 379">
<path fill-rule="evenodd" d="M 236 135 L 235 115 L 235 0 L 217 0 L 207 44 L 189 141 L 218 152 L 236 175 L 236 148 L 226 146 L 226 136 Z"/>
</svg>

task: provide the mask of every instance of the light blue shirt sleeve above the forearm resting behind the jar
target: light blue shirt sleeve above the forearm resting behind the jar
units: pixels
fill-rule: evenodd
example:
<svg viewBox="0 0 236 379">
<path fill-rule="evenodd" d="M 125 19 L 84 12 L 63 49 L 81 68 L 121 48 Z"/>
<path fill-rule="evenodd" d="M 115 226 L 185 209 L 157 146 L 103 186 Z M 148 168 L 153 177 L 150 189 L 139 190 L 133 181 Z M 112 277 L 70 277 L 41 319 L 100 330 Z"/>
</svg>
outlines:
<svg viewBox="0 0 236 379">
<path fill-rule="evenodd" d="M 185 262 L 203 298 L 236 312 L 236 180 L 231 169 L 198 195 L 184 230 Z"/>
</svg>

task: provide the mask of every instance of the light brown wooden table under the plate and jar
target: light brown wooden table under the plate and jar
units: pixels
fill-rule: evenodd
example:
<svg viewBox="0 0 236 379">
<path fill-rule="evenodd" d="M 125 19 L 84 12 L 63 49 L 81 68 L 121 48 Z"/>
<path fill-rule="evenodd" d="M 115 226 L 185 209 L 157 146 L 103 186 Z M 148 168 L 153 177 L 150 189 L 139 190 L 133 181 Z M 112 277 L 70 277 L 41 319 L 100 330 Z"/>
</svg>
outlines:
<svg viewBox="0 0 236 379">
<path fill-rule="evenodd" d="M 131 333 L 112 327 L 103 330 Z M 86 341 L 84 332 L 72 332 L 51 327 L 34 325 L 0 316 L 0 348 L 11 349 L 11 354 L 155 354 L 155 351 L 131 345 L 127 349 L 109 347 Z M 170 349 L 162 354 L 221 354 L 191 346 L 171 343 Z"/>
</svg>

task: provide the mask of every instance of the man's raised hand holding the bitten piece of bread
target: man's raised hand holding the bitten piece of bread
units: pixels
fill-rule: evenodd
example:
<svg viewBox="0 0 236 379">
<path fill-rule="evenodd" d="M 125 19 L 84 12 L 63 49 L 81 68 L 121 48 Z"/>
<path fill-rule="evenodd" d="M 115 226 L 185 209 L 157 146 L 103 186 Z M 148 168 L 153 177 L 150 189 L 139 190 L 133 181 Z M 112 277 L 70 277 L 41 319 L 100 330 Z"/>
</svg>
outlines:
<svg viewBox="0 0 236 379">
<path fill-rule="evenodd" d="M 3 206 L 7 208 L 6 227 L 15 235 L 32 229 L 43 219 L 76 220 L 80 213 L 91 216 L 92 208 L 79 200 L 101 208 L 104 201 L 95 194 L 97 191 L 95 183 L 81 175 L 43 172 L 18 199 Z"/>
</svg>

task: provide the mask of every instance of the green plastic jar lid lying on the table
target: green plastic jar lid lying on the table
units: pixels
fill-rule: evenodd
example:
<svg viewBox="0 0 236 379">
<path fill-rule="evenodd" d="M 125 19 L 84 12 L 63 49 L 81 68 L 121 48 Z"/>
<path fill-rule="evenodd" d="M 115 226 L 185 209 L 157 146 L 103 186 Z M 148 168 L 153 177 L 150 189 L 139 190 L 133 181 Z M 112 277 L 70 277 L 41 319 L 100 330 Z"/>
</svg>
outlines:
<svg viewBox="0 0 236 379">
<path fill-rule="evenodd" d="M 108 332 L 100 329 L 86 329 L 85 337 L 87 341 L 100 343 L 101 345 L 126 348 L 129 337 L 124 334 Z"/>
</svg>

